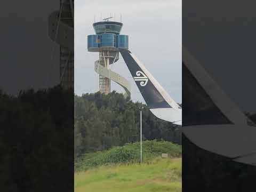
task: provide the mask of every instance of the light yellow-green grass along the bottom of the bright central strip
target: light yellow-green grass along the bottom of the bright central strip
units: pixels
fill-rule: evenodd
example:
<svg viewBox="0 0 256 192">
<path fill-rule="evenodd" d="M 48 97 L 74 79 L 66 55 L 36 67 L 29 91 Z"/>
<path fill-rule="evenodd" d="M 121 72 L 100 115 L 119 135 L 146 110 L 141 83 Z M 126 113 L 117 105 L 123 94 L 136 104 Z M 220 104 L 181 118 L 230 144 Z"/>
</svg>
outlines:
<svg viewBox="0 0 256 192">
<path fill-rule="evenodd" d="M 181 158 L 154 158 L 75 173 L 76 192 L 181 191 Z"/>
</svg>

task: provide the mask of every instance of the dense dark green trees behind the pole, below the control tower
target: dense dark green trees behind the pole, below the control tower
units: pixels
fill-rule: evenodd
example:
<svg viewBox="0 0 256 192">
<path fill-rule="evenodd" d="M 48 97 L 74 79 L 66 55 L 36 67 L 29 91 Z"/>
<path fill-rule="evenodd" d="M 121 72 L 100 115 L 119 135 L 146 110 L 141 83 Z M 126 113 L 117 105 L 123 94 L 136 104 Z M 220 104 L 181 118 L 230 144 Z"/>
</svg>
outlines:
<svg viewBox="0 0 256 192">
<path fill-rule="evenodd" d="M 139 141 L 140 109 L 144 140 L 166 140 L 181 144 L 178 126 L 162 121 L 140 102 L 125 99 L 115 91 L 75 96 L 75 159 L 81 154 Z"/>
</svg>

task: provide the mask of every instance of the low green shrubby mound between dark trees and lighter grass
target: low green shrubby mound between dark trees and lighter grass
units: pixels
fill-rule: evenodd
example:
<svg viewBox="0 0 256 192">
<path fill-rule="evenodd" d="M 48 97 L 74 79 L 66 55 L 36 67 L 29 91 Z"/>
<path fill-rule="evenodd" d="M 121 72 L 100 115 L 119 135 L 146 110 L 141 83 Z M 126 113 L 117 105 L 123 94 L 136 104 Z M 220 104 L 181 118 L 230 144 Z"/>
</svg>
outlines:
<svg viewBox="0 0 256 192">
<path fill-rule="evenodd" d="M 171 157 L 181 156 L 181 146 L 168 141 L 143 141 L 143 162 L 149 162 L 162 153 Z M 138 163 L 140 161 L 140 143 L 128 143 L 122 147 L 84 154 L 75 163 L 75 171 L 86 171 L 96 166 L 118 163 Z"/>
</svg>

